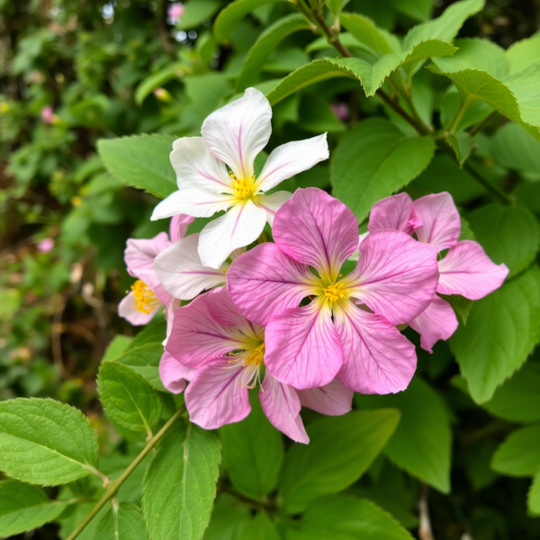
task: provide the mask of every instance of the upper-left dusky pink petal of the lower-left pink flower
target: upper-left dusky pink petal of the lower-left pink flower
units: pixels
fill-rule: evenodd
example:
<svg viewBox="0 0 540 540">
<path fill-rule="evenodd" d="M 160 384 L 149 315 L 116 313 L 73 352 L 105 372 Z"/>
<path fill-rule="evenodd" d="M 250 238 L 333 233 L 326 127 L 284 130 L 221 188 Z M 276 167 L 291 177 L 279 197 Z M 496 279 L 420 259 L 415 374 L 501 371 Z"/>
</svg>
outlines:
<svg viewBox="0 0 540 540">
<path fill-rule="evenodd" d="M 166 342 L 166 352 L 180 364 L 198 368 L 202 363 L 245 348 L 238 334 L 220 325 L 208 311 L 207 294 L 198 296 L 175 310 L 173 329 Z"/>
</svg>

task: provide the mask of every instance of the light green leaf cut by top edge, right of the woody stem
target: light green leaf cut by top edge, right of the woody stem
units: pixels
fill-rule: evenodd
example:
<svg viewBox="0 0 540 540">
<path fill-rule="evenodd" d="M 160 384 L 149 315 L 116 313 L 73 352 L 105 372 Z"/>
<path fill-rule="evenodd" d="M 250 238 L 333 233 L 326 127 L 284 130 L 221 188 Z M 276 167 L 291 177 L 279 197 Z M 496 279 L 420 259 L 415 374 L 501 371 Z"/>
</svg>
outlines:
<svg viewBox="0 0 540 540">
<path fill-rule="evenodd" d="M 464 22 L 473 14 L 482 11 L 484 0 L 464 0 L 455 2 L 437 19 L 411 28 L 403 40 L 403 49 L 409 49 L 425 40 L 454 40 Z"/>
</svg>

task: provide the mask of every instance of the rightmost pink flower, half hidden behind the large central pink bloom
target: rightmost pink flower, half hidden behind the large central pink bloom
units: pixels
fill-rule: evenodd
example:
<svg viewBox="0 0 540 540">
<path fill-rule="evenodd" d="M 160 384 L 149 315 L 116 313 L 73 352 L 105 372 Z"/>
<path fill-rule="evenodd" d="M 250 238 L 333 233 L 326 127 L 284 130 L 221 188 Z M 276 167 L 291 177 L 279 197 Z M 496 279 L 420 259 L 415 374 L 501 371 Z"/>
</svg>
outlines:
<svg viewBox="0 0 540 540">
<path fill-rule="evenodd" d="M 472 240 L 458 241 L 461 232 L 459 212 L 449 193 L 435 193 L 412 202 L 407 193 L 392 195 L 377 202 L 370 214 L 370 235 L 383 229 L 398 229 L 420 242 L 448 249 L 438 262 L 437 293 L 461 294 L 479 300 L 500 287 L 509 273 L 505 265 L 495 265 L 482 246 Z M 435 296 L 426 311 L 409 321 L 420 334 L 420 345 L 430 353 L 439 339 L 448 339 L 457 329 L 452 306 Z"/>
</svg>

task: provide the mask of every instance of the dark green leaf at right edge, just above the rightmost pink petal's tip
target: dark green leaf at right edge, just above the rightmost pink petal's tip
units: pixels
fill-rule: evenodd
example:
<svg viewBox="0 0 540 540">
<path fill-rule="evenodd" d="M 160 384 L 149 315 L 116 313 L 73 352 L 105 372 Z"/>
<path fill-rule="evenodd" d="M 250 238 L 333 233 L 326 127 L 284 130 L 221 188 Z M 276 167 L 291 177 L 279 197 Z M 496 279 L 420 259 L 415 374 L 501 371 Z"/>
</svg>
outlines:
<svg viewBox="0 0 540 540">
<path fill-rule="evenodd" d="M 509 277 L 529 266 L 540 247 L 540 224 L 524 206 L 488 204 L 467 216 L 474 236 L 491 260 L 509 267 Z"/>
</svg>

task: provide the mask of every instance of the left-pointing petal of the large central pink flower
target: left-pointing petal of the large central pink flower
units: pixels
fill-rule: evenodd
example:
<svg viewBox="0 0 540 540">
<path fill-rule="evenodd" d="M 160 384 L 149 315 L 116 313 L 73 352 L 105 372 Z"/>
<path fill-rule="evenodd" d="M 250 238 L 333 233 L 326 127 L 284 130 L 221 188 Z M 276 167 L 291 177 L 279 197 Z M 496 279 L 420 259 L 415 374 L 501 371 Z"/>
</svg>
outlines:
<svg viewBox="0 0 540 540">
<path fill-rule="evenodd" d="M 275 244 L 260 244 L 230 265 L 227 289 L 247 320 L 266 325 L 270 317 L 295 308 L 317 287 L 307 266 L 284 255 Z"/>
</svg>

